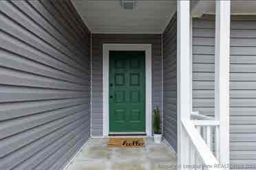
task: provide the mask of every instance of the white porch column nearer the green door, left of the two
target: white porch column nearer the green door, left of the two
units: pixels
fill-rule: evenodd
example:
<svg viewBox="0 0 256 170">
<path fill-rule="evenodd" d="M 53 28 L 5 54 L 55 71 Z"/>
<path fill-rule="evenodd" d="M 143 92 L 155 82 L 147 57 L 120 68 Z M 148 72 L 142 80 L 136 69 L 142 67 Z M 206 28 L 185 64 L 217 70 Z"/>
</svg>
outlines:
<svg viewBox="0 0 256 170">
<path fill-rule="evenodd" d="M 181 121 L 191 114 L 190 1 L 177 1 L 177 23 L 178 165 L 186 165 L 189 146 Z"/>
</svg>

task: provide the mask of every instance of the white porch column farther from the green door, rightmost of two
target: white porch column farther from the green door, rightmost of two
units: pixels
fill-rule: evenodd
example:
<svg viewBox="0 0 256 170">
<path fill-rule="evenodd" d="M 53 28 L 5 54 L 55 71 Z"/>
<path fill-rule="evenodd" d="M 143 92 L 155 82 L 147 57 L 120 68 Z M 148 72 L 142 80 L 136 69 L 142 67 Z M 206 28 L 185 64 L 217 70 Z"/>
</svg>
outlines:
<svg viewBox="0 0 256 170">
<path fill-rule="evenodd" d="M 221 164 L 229 163 L 229 58 L 231 1 L 215 1 L 215 119 L 220 121 Z"/>
</svg>

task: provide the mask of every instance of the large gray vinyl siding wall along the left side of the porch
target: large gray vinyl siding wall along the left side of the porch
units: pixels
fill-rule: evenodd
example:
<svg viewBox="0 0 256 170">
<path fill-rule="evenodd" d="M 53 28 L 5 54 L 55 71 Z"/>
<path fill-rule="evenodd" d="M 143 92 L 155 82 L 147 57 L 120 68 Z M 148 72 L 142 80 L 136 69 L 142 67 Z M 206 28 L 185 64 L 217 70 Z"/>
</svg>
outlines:
<svg viewBox="0 0 256 170">
<path fill-rule="evenodd" d="M 0 1 L 0 169 L 63 169 L 90 134 L 90 32 L 70 1 Z"/>
</svg>

